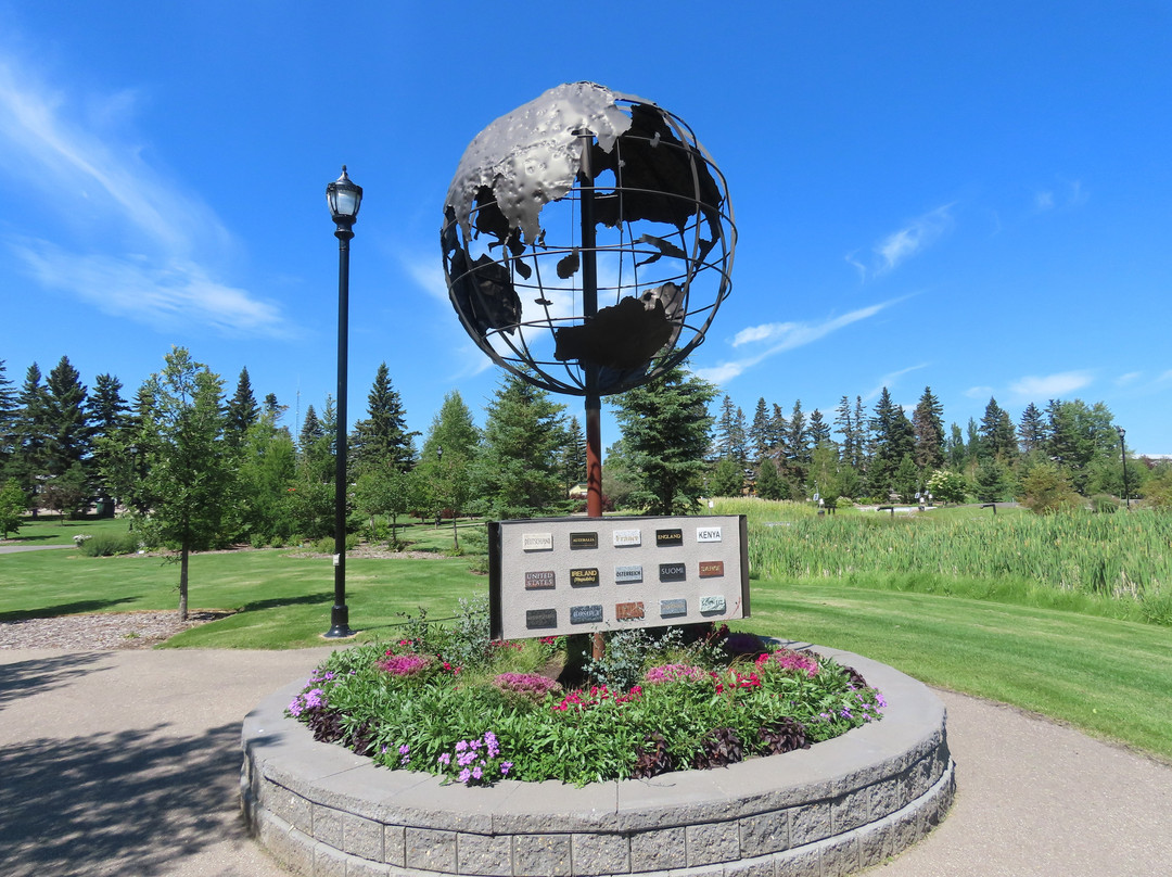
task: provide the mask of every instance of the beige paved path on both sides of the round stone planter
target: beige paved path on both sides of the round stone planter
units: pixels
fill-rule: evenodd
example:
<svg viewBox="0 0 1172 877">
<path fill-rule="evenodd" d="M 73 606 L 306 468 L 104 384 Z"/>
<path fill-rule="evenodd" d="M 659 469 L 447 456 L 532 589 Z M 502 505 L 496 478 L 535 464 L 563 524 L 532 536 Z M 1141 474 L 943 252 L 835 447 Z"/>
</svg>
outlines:
<svg viewBox="0 0 1172 877">
<path fill-rule="evenodd" d="M 329 651 L 0 651 L 0 873 L 286 877 L 239 817 L 240 722 Z M 940 696 L 956 803 L 871 873 L 1172 875 L 1172 767 Z"/>
</svg>

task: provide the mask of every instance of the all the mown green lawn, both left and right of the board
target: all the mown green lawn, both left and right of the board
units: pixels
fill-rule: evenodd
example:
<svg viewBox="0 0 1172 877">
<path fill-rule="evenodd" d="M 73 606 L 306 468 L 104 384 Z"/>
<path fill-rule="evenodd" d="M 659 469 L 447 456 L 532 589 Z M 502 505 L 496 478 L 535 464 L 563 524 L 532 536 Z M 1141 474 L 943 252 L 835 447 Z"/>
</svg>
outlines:
<svg viewBox="0 0 1172 877">
<path fill-rule="evenodd" d="M 64 539 L 57 544 L 82 531 L 70 522 L 60 529 Z M 471 528 L 462 526 L 462 543 L 464 532 Z M 417 538 L 414 548 L 441 552 L 451 545 L 451 528 L 421 524 L 409 538 Z M 237 614 L 166 646 L 322 645 L 333 604 L 331 559 L 295 555 L 193 556 L 192 607 Z M 177 580 L 178 567 L 154 557 L 87 558 L 73 550 L 7 555 L 0 557 L 0 621 L 173 610 Z M 755 580 L 752 618 L 736 626 L 866 654 L 931 685 L 1013 703 L 1172 760 L 1172 630 L 1098 617 L 1095 600 L 1109 598 L 1095 594 L 1028 605 L 1023 587 L 1004 579 L 942 583 L 898 575 Z M 486 589 L 484 577 L 468 571 L 466 558 L 347 560 L 350 626 L 360 639 L 395 635 L 403 621 L 397 613 L 417 614 L 418 606 L 429 618 L 450 617 L 459 598 Z"/>
</svg>

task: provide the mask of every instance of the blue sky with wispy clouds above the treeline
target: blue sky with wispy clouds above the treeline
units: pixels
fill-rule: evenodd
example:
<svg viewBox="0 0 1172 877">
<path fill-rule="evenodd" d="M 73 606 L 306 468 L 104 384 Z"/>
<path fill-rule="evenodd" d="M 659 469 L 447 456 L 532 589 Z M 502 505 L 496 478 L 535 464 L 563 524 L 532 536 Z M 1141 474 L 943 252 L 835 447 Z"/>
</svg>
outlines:
<svg viewBox="0 0 1172 877">
<path fill-rule="evenodd" d="M 1168 2 L 427 6 L 0 0 L 8 378 L 67 354 L 129 396 L 182 345 L 294 427 L 334 389 L 346 163 L 352 416 L 382 361 L 413 429 L 451 389 L 483 416 L 443 198 L 492 120 L 592 80 L 728 179 L 734 288 L 691 365 L 747 416 L 1079 397 L 1172 453 Z"/>
</svg>

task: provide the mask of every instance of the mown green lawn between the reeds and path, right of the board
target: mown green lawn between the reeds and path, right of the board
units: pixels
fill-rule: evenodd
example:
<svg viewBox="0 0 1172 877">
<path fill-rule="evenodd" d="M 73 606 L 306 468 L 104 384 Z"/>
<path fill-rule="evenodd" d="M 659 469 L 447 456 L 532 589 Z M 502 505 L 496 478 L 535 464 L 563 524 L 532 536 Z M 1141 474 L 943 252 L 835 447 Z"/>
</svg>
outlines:
<svg viewBox="0 0 1172 877">
<path fill-rule="evenodd" d="M 1172 632 L 956 597 L 756 583 L 758 633 L 846 648 L 1172 760 Z"/>
</svg>

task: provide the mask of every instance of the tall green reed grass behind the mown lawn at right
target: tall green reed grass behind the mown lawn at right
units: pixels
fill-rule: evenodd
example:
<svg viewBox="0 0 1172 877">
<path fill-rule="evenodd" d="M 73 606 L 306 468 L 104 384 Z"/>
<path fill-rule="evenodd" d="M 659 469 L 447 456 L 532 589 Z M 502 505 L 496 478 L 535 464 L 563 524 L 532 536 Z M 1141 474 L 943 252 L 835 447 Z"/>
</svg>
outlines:
<svg viewBox="0 0 1172 877">
<path fill-rule="evenodd" d="M 1024 587 L 1132 603 L 1172 624 L 1172 515 L 852 514 L 810 507 L 717 501 L 749 517 L 749 565 L 761 579 L 928 577 L 1014 582 Z"/>
</svg>

